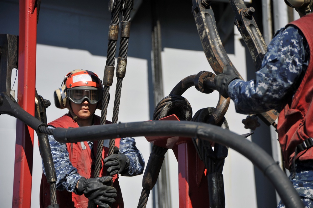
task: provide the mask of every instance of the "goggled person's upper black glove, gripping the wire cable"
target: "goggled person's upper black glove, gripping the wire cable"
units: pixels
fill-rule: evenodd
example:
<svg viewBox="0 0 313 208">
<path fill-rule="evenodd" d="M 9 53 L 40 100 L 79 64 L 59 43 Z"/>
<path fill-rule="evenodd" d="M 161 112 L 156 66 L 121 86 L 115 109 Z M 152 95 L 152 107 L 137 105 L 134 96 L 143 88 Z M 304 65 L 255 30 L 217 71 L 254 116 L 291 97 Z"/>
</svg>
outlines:
<svg viewBox="0 0 313 208">
<path fill-rule="evenodd" d="M 104 166 L 108 167 L 107 173 L 111 176 L 118 173 L 127 175 L 129 161 L 129 158 L 121 153 L 112 154 L 103 160 Z"/>
</svg>

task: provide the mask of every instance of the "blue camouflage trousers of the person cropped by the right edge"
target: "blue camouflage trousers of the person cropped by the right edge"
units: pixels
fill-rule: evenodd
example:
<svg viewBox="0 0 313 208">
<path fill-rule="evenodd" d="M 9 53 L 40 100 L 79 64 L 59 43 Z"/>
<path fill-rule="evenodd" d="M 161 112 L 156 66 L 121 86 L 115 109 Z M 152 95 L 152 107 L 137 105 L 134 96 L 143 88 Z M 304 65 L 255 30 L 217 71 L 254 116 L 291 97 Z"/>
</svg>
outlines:
<svg viewBox="0 0 313 208">
<path fill-rule="evenodd" d="M 300 198 L 305 208 L 313 207 L 313 161 L 305 161 L 296 163 L 296 175 L 292 179 L 292 174 L 289 176 L 293 186 L 300 195 Z M 285 208 L 285 205 L 280 201 L 277 208 Z"/>
</svg>

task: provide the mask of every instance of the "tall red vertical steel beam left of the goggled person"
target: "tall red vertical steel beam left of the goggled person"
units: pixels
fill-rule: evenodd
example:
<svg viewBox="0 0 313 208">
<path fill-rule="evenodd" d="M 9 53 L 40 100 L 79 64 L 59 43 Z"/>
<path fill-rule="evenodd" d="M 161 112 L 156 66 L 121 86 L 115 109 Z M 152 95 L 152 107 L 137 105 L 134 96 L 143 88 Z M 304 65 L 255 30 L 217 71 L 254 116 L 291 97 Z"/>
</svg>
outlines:
<svg viewBox="0 0 313 208">
<path fill-rule="evenodd" d="M 35 115 L 37 8 L 19 1 L 18 104 Z M 17 120 L 12 207 L 30 208 L 34 130 Z"/>
</svg>

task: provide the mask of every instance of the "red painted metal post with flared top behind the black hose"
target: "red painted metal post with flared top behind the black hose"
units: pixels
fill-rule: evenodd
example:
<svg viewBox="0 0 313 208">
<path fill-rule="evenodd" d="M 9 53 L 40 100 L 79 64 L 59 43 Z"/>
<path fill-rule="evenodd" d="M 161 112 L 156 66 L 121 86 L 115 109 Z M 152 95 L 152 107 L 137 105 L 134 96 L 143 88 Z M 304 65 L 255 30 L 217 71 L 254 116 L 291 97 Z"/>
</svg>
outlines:
<svg viewBox="0 0 313 208">
<path fill-rule="evenodd" d="M 160 120 L 179 120 L 170 115 Z M 178 161 L 179 208 L 209 207 L 208 180 L 204 163 L 188 137 L 146 136 L 157 146 L 172 149 Z"/>
</svg>

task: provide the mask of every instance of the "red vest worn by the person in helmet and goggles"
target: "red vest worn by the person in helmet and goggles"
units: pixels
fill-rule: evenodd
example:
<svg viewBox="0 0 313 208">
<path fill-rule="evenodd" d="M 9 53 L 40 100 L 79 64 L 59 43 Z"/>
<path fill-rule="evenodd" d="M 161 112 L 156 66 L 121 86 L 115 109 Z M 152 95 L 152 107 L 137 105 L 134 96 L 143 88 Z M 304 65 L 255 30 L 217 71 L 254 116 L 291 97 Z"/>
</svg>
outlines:
<svg viewBox="0 0 313 208">
<path fill-rule="evenodd" d="M 109 123 L 109 122 L 107 122 Z M 100 124 L 100 117 L 94 115 L 94 124 Z M 48 125 L 62 128 L 77 128 L 79 127 L 70 114 L 65 114 L 59 119 L 56 119 Z M 86 148 L 82 148 L 80 142 L 77 143 L 66 143 L 67 151 L 69 152 L 69 160 L 72 165 L 77 168 L 78 173 L 85 178 L 93 178 L 95 157 L 97 152 L 98 141 L 94 141 L 93 152 L 86 141 L 84 141 Z M 119 147 L 120 139 L 115 139 L 115 146 Z M 83 150 L 84 149 L 84 150 Z M 103 164 L 103 160 L 108 156 L 109 148 L 103 147 L 102 151 L 102 169 L 100 170 L 100 177 L 106 175 L 106 167 Z M 113 175 L 113 186 L 117 190 L 117 197 L 115 197 L 115 203 L 112 208 L 123 208 L 123 197 L 118 182 L 118 175 Z M 77 195 L 74 192 L 68 192 L 67 190 L 56 191 L 57 203 L 60 208 L 87 208 L 88 199 L 85 195 Z M 50 202 L 50 185 L 47 182 L 46 176 L 42 174 L 41 185 L 40 185 L 40 208 L 46 208 L 51 204 Z"/>
</svg>

